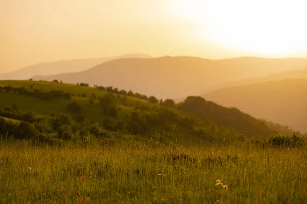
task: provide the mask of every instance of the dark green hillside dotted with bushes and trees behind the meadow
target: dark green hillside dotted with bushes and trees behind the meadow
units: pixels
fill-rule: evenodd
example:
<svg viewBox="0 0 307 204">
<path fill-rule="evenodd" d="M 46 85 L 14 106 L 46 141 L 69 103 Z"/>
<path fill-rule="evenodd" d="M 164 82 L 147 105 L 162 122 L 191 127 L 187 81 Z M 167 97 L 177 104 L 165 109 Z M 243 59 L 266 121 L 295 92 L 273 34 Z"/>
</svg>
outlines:
<svg viewBox="0 0 307 204">
<path fill-rule="evenodd" d="M 0 116 L 23 120 L 30 115 L 30 121 L 37 121 L 39 130 L 49 130 L 48 135 L 54 131 L 62 133 L 58 130 L 62 125 L 68 132 L 100 130 L 102 125 L 111 132 L 126 129 L 133 134 L 162 134 L 166 131 L 210 140 L 269 137 L 278 132 L 239 110 L 208 103 L 200 97 L 188 97 L 180 104 L 171 100 L 158 103 L 155 97 L 123 90 L 37 81 L 0 81 L 0 90 Z M 29 110 L 36 116 L 28 113 Z M 63 122 L 54 124 L 57 120 Z M 50 126 L 53 129 L 47 128 Z"/>
</svg>

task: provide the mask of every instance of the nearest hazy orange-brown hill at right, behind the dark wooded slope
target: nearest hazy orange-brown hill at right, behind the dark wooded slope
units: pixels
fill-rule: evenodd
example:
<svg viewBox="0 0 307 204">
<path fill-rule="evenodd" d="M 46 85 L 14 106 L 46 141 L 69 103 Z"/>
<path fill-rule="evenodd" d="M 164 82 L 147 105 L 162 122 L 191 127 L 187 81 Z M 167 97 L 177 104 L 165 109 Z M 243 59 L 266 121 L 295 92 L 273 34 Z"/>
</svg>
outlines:
<svg viewBox="0 0 307 204">
<path fill-rule="evenodd" d="M 236 107 L 264 118 L 307 132 L 307 79 L 268 81 L 216 90 L 203 95 L 206 100 Z"/>
</svg>

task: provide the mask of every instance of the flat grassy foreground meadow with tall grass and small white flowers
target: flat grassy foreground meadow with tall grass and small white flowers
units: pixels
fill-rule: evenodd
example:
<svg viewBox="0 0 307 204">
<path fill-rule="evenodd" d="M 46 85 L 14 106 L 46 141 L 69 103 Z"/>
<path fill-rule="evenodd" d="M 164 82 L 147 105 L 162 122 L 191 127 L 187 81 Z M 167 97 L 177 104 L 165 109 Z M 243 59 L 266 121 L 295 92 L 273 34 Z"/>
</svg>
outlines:
<svg viewBox="0 0 307 204">
<path fill-rule="evenodd" d="M 303 203 L 305 147 L 0 142 L 1 203 Z M 160 141 L 160 142 L 159 142 Z M 226 186 L 216 187 L 216 180 Z M 224 188 L 224 189 L 223 189 Z"/>
</svg>

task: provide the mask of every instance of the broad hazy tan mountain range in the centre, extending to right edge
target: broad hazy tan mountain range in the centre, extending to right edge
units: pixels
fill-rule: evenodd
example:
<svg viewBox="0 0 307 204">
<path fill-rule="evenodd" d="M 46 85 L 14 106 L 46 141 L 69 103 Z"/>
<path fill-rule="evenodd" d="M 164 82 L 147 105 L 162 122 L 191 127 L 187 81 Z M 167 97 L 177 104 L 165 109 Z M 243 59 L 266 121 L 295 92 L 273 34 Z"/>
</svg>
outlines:
<svg viewBox="0 0 307 204">
<path fill-rule="evenodd" d="M 303 69 L 307 59 L 242 57 L 207 60 L 196 57 L 118 59 L 78 73 L 65 73 L 34 80 L 62 80 L 91 86 L 113 86 L 158 98 L 185 98 L 204 93 L 208 87 L 232 80 L 260 77 L 285 70 Z"/>
</svg>

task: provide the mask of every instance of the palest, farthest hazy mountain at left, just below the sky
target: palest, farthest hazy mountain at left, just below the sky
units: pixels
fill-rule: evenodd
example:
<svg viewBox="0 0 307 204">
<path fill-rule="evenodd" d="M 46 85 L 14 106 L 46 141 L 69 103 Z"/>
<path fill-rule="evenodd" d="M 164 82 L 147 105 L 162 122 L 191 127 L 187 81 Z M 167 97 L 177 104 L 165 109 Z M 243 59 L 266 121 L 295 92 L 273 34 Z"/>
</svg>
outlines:
<svg viewBox="0 0 307 204">
<path fill-rule="evenodd" d="M 32 77 L 33 75 L 54 75 L 68 72 L 79 72 L 89 69 L 95 65 L 120 58 L 151 58 L 146 54 L 127 54 L 114 57 L 92 58 L 92 59 L 73 59 L 55 62 L 44 62 L 32 66 L 24 67 L 19 70 L 0 75 L 1 80 L 21 80 Z"/>
</svg>

